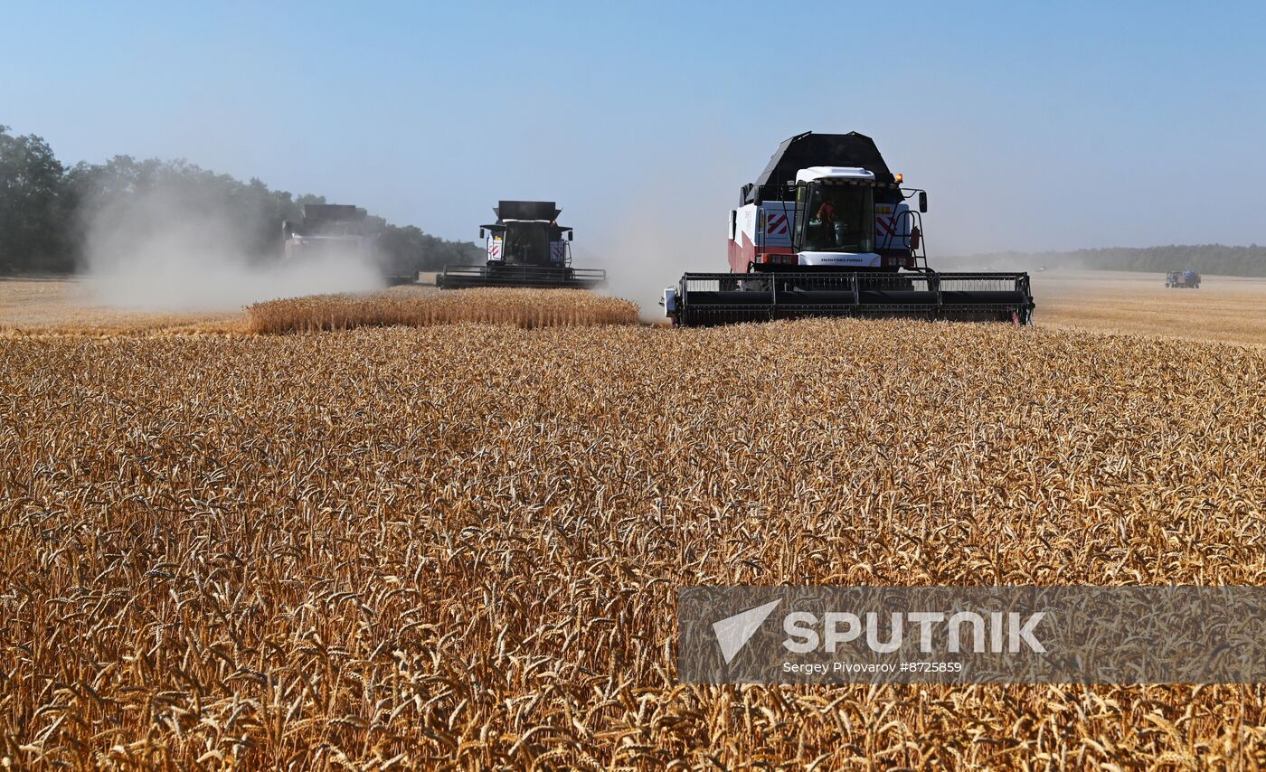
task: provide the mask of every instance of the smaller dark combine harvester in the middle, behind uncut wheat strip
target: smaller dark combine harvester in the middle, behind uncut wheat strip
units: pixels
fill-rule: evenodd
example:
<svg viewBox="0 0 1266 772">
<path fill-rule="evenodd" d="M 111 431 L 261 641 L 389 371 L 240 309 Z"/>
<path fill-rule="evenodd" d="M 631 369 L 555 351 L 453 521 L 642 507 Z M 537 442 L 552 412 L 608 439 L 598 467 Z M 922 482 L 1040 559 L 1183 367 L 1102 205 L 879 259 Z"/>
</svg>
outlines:
<svg viewBox="0 0 1266 772">
<path fill-rule="evenodd" d="M 436 285 L 463 287 L 592 289 L 606 271 L 571 266 L 572 229 L 558 224 L 562 210 L 553 201 L 500 201 L 496 221 L 480 227 L 486 261 L 482 266 L 446 266 Z"/>
</svg>

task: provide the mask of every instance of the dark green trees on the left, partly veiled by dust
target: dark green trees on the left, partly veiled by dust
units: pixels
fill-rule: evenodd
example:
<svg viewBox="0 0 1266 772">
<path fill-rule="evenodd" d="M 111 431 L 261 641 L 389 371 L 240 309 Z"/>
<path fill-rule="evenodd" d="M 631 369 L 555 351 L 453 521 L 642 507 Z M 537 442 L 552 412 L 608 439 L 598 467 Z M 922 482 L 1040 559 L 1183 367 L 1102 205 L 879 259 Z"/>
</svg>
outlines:
<svg viewBox="0 0 1266 772">
<path fill-rule="evenodd" d="M 261 259 L 280 254 L 284 220 L 300 219 L 304 204 L 327 202 L 324 196 L 295 196 L 258 178 L 242 182 L 185 161 L 115 156 L 66 166 L 43 138 L 15 135 L 0 125 L 0 273 L 73 272 L 84 265 L 94 215 L 154 192 L 215 211 Z M 363 228 L 376 237 L 380 267 L 390 276 L 484 259 L 481 246 L 446 240 L 414 225 L 370 215 Z"/>
</svg>

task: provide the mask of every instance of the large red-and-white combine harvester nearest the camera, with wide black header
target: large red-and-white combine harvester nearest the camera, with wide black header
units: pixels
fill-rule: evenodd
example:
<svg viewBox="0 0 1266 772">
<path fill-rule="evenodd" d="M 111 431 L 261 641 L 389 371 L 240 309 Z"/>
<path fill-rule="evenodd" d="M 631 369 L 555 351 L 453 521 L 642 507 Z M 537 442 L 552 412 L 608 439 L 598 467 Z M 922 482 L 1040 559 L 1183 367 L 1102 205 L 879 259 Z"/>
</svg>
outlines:
<svg viewBox="0 0 1266 772">
<path fill-rule="evenodd" d="M 901 182 L 870 137 L 791 137 L 739 190 L 729 273 L 686 273 L 663 291 L 665 311 L 682 327 L 803 316 L 1029 324 L 1028 273 L 928 268 L 928 196 Z"/>
</svg>

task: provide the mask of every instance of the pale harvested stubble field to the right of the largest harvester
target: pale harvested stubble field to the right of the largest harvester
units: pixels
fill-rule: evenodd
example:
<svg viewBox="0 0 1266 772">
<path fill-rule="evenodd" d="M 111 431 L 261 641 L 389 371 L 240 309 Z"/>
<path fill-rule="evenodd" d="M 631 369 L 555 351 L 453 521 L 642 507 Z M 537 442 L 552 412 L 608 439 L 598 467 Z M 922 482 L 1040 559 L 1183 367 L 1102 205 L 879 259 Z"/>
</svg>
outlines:
<svg viewBox="0 0 1266 772">
<path fill-rule="evenodd" d="M 1204 276 L 1199 290 L 1170 290 L 1165 273 L 1053 270 L 1032 277 L 1041 327 L 1266 344 L 1266 278 Z"/>
</svg>

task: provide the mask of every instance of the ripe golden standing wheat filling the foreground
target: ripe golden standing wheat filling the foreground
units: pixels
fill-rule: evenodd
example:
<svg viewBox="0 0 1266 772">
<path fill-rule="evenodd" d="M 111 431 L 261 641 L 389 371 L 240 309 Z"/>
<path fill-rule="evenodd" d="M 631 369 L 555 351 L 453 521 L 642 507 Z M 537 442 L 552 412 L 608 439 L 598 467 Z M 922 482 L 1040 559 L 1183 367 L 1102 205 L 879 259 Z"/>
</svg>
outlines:
<svg viewBox="0 0 1266 772">
<path fill-rule="evenodd" d="M 1256 768 L 1261 686 L 676 682 L 686 583 L 1266 582 L 1266 352 L 0 338 L 0 762 Z"/>
</svg>

